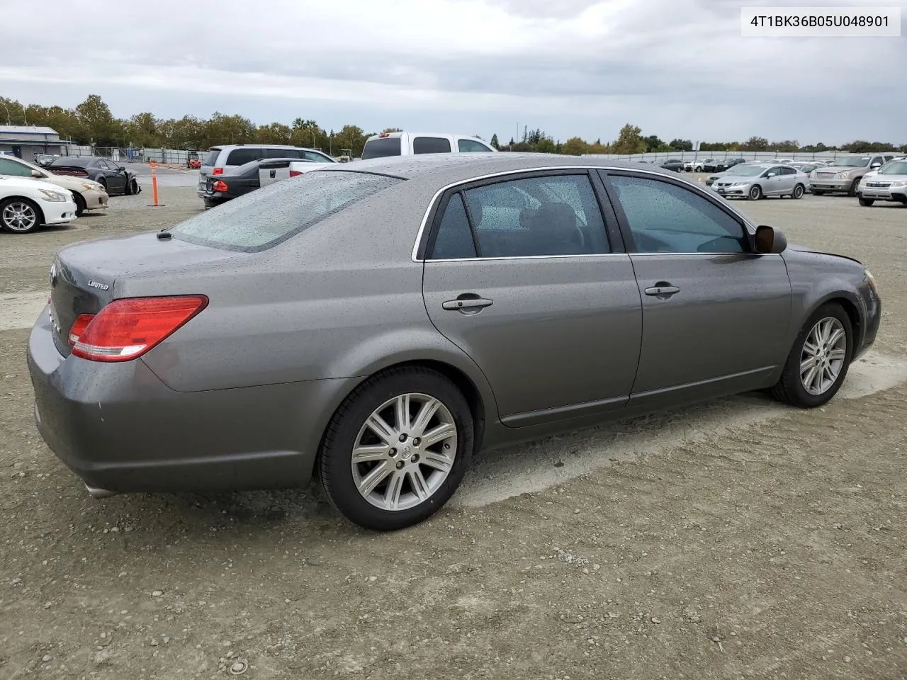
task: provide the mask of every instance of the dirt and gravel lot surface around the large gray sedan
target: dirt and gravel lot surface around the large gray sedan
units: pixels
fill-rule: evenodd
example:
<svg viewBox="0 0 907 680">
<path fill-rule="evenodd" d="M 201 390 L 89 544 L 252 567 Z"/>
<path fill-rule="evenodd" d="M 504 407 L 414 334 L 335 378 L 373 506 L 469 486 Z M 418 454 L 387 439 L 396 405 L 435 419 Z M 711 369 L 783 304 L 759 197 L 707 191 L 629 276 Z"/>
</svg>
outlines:
<svg viewBox="0 0 907 680">
<path fill-rule="evenodd" d="M 377 535 L 317 489 L 93 500 L 34 429 L 54 252 L 192 189 L 0 235 L 0 678 L 907 677 L 907 209 L 741 207 L 858 257 L 883 328 L 828 406 L 744 395 L 476 461 Z"/>
</svg>

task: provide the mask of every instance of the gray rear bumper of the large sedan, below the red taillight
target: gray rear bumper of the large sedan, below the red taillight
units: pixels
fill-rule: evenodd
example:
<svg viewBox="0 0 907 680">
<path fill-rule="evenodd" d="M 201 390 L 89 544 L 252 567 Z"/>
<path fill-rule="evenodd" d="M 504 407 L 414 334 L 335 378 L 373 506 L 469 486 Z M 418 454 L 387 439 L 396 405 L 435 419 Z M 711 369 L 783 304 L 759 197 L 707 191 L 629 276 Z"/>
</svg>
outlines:
<svg viewBox="0 0 907 680">
<path fill-rule="evenodd" d="M 27 360 L 44 441 L 90 487 L 119 492 L 305 485 L 331 404 L 357 382 L 180 393 L 141 359 L 63 358 L 46 309 Z"/>
</svg>

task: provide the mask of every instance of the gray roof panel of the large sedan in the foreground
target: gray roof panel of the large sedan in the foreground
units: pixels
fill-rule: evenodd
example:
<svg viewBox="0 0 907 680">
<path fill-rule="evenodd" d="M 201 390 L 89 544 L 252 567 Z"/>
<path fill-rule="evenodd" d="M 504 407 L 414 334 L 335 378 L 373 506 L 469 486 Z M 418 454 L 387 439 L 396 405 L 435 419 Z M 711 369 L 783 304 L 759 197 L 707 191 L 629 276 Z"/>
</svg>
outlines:
<svg viewBox="0 0 907 680">
<path fill-rule="evenodd" d="M 626 168 L 658 172 L 677 177 L 671 170 L 638 161 L 614 160 L 595 156 L 563 156 L 553 153 L 470 152 L 427 153 L 415 156 L 391 156 L 337 163 L 315 171 L 374 172 L 404 180 L 424 179 L 449 184 L 519 170 L 558 168 Z"/>
</svg>

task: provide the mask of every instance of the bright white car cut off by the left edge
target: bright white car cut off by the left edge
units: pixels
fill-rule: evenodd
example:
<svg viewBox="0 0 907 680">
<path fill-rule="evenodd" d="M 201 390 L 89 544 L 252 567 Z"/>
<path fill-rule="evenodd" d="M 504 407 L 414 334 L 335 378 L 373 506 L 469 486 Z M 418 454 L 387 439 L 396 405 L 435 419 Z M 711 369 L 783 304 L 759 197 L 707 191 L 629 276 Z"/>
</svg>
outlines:
<svg viewBox="0 0 907 680">
<path fill-rule="evenodd" d="M 0 228 L 27 234 L 75 219 L 73 192 L 31 177 L 0 176 Z"/>
</svg>

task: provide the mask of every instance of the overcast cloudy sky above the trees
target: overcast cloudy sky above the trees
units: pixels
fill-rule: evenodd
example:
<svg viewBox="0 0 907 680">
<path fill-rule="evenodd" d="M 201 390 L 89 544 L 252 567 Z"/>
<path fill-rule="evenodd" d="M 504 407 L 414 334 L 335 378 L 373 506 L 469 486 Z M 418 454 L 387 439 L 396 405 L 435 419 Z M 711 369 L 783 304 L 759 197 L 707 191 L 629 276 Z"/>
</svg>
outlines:
<svg viewBox="0 0 907 680">
<path fill-rule="evenodd" d="M 523 125 L 609 141 L 626 122 L 666 141 L 907 142 L 907 37 L 740 29 L 741 6 L 887 5 L 907 18 L 905 0 L 0 2 L 0 95 L 21 102 L 97 93 L 122 117 L 300 116 L 502 142 Z"/>
</svg>

